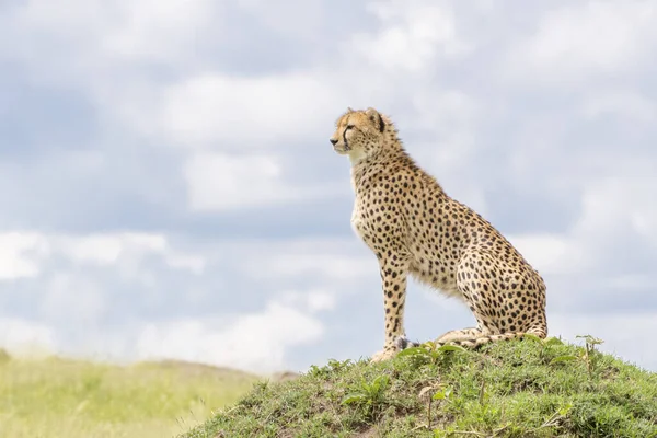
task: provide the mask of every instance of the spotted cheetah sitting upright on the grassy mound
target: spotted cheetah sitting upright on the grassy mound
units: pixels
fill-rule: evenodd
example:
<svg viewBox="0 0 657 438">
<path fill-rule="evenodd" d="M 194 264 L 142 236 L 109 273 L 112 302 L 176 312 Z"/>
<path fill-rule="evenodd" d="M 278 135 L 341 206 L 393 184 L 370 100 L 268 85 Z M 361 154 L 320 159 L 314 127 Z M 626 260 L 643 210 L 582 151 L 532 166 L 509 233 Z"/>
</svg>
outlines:
<svg viewBox="0 0 657 438">
<path fill-rule="evenodd" d="M 548 336 L 545 284 L 487 220 L 446 194 L 406 152 L 391 119 L 376 108 L 348 108 L 331 137 L 351 162 L 351 227 L 376 254 L 383 289 L 383 349 L 390 359 L 418 343 L 404 330 L 407 277 L 462 300 L 476 326 L 435 342 L 463 347 Z"/>
</svg>

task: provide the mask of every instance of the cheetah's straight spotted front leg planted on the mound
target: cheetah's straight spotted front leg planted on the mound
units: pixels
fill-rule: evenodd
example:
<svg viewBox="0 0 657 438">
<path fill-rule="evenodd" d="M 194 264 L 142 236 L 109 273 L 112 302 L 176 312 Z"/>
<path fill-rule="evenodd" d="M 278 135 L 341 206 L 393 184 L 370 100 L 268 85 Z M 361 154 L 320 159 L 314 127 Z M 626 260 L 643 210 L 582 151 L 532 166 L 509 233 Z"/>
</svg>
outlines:
<svg viewBox="0 0 657 438">
<path fill-rule="evenodd" d="M 385 341 L 383 349 L 374 354 L 371 361 L 387 360 L 395 356 L 399 349 L 394 341 L 397 336 L 405 336 L 404 302 L 410 260 L 406 255 L 397 254 L 379 258 L 385 311 Z"/>
</svg>

